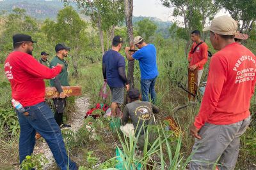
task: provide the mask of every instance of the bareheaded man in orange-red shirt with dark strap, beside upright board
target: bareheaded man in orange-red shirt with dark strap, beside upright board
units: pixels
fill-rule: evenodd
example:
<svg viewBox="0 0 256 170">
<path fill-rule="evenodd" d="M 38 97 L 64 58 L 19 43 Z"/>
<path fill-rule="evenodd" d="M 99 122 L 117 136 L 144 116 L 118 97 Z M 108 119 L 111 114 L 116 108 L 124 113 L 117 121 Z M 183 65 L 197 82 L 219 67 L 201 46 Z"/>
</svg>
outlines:
<svg viewBox="0 0 256 170">
<path fill-rule="evenodd" d="M 194 42 L 188 54 L 189 69 L 194 71 L 197 69 L 196 85 L 199 86 L 204 71 L 204 64 L 207 62 L 208 46 L 200 38 L 200 31 L 191 32 L 191 39 Z"/>
</svg>

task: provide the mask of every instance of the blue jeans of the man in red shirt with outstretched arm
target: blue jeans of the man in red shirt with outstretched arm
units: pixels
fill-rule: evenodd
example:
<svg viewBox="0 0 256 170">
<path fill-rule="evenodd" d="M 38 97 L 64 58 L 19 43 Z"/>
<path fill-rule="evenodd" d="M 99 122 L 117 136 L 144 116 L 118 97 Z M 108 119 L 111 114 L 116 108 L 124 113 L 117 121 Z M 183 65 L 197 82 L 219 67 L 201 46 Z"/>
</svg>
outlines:
<svg viewBox="0 0 256 170">
<path fill-rule="evenodd" d="M 27 155 L 33 153 L 35 133 L 37 131 L 47 142 L 52 155 L 61 170 L 78 169 L 76 163 L 72 162 L 67 156 L 60 127 L 54 120 L 53 113 L 49 106 L 42 102 L 34 106 L 26 107 L 25 109 L 28 110 L 29 113 L 27 116 L 17 112 L 20 124 L 20 164 Z"/>
</svg>

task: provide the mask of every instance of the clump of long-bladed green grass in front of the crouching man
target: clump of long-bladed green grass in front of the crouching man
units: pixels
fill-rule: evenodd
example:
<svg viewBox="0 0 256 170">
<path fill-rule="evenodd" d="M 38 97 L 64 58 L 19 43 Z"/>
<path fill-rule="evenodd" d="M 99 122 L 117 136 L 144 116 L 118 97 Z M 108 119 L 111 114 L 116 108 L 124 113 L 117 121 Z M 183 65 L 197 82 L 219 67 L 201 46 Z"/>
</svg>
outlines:
<svg viewBox="0 0 256 170">
<path fill-rule="evenodd" d="M 154 136 L 154 141 L 149 140 L 149 134 Z M 184 158 L 184 153 L 180 151 L 182 135 L 175 136 L 174 132 L 166 131 L 163 125 L 147 126 L 145 145 L 141 150 L 137 147 L 139 135 L 127 138 L 118 133 L 118 138 L 122 145 L 122 148 L 117 146 L 116 149 L 120 153 L 117 159 L 122 160 L 118 166 L 123 169 L 186 169 L 191 160 L 192 155 Z"/>
</svg>

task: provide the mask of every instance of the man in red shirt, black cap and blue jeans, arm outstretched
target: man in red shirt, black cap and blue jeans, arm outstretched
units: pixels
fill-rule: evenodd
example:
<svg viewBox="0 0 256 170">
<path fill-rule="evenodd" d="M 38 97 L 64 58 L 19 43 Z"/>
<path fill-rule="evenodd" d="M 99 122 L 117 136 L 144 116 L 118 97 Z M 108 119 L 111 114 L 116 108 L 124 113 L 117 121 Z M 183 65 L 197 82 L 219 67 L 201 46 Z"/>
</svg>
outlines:
<svg viewBox="0 0 256 170">
<path fill-rule="evenodd" d="M 67 156 L 60 127 L 54 120 L 51 108 L 44 101 L 44 79 L 57 76 L 63 66 L 58 64 L 50 69 L 40 64 L 32 56 L 33 43 L 35 41 L 31 39 L 31 36 L 14 35 L 14 50 L 4 62 L 4 71 L 12 87 L 12 98 L 19 101 L 26 110 L 25 113 L 16 110 L 20 124 L 20 164 L 27 155 L 33 153 L 37 131 L 47 141 L 61 169 L 77 169 L 76 163 Z"/>
</svg>

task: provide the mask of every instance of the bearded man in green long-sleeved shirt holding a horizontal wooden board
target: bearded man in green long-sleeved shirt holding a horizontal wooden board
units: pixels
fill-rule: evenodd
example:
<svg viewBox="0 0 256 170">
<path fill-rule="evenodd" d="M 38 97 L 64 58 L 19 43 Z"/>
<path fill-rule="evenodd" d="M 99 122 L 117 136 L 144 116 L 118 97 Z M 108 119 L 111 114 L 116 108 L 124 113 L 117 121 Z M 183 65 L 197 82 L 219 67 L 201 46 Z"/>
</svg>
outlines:
<svg viewBox="0 0 256 170">
<path fill-rule="evenodd" d="M 67 57 L 69 50 L 70 50 L 70 48 L 65 46 L 64 44 L 56 45 L 55 46 L 56 56 L 51 60 L 51 63 L 50 63 L 51 68 L 56 66 L 58 63 L 63 65 L 63 67 L 61 69 L 61 73 L 57 77 L 60 80 L 61 86 L 69 86 L 68 64 L 64 60 L 64 58 Z M 50 80 L 50 83 L 51 83 L 51 86 L 54 87 L 54 81 Z M 66 106 L 66 99 L 67 99 L 67 97 L 53 99 L 53 103 L 55 106 L 54 118 L 55 118 L 57 124 L 60 125 L 61 128 L 71 127 L 71 125 L 63 124 L 63 112 L 64 112 L 65 106 Z"/>
</svg>

